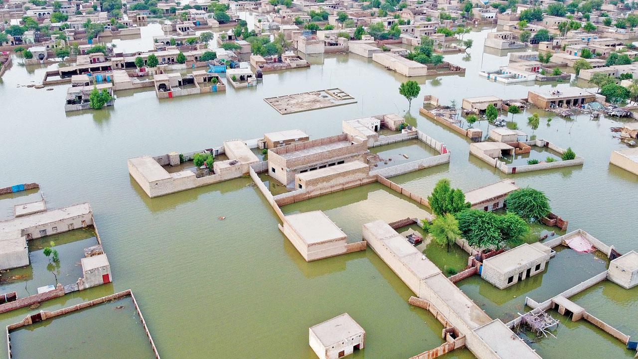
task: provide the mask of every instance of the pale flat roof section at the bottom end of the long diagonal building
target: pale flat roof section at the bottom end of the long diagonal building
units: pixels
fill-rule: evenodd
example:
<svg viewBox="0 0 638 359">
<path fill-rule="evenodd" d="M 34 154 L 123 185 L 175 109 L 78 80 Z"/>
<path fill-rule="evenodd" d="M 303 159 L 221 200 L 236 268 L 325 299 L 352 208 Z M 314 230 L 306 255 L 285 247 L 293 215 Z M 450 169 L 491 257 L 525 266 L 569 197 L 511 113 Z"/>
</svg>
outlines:
<svg viewBox="0 0 638 359">
<path fill-rule="evenodd" d="M 501 359 L 540 359 L 523 339 L 512 333 L 501 319 L 474 330 Z"/>
</svg>

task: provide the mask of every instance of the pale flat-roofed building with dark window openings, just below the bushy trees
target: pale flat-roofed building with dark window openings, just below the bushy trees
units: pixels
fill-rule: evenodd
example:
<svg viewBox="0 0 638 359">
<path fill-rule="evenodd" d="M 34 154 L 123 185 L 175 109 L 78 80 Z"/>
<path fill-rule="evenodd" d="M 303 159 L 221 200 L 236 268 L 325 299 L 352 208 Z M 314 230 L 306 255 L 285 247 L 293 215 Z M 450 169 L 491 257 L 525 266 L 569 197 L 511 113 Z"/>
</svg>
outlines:
<svg viewBox="0 0 638 359">
<path fill-rule="evenodd" d="M 480 277 L 505 289 L 544 271 L 550 257 L 551 248 L 542 243 L 523 243 L 483 261 Z"/>
</svg>

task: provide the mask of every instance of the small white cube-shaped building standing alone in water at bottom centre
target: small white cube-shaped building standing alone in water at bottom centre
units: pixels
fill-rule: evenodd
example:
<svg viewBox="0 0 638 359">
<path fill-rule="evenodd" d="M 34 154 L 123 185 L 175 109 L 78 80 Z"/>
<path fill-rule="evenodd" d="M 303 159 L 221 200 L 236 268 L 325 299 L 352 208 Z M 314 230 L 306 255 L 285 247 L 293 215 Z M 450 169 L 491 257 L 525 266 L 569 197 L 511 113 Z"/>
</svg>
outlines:
<svg viewBox="0 0 638 359">
<path fill-rule="evenodd" d="M 310 348 L 320 359 L 338 359 L 363 349 L 366 331 L 348 313 L 311 326 Z"/>
</svg>

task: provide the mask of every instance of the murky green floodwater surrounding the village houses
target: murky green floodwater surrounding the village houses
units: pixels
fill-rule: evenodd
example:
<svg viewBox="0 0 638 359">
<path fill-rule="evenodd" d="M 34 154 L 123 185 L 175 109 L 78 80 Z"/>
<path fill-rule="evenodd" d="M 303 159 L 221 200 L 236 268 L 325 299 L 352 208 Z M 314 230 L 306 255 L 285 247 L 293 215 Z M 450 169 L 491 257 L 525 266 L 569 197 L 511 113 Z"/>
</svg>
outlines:
<svg viewBox="0 0 638 359">
<path fill-rule="evenodd" d="M 144 27 L 142 39 L 125 40 L 118 47 L 123 51 L 139 44 L 150 48 L 149 36 L 161 33 L 158 30 L 158 26 Z M 422 88 L 420 96 L 433 94 L 449 104 L 470 96 L 524 98 L 530 89 L 570 86 L 567 82 L 503 86 L 479 77 L 479 70 L 507 63 L 507 52 L 483 52 L 489 31 L 494 29 L 477 29 L 466 35 L 474 40 L 468 54 L 445 56 L 447 61 L 467 68 L 464 76 L 416 78 Z M 158 100 L 153 91 L 120 91 L 114 107 L 65 114 L 68 85 L 52 86 L 53 91 L 25 87 L 41 82 L 44 72 L 56 65 L 22 66 L 20 59 L 14 58 L 13 66 L 0 79 L 0 153 L 10 159 L 3 162 L 0 183 L 40 183 L 49 208 L 91 202 L 114 282 L 51 300 L 35 310 L 2 314 L 0 326 L 38 310 L 60 309 L 130 288 L 163 358 L 315 358 L 308 346 L 308 327 L 343 312 L 367 332 L 366 348 L 355 358 L 409 358 L 441 344 L 440 323 L 424 310 L 408 305 L 412 293 L 371 249 L 306 263 L 279 232 L 278 218 L 249 178 L 149 199 L 128 174 L 126 159 L 131 157 L 195 151 L 219 146 L 227 139 L 254 139 L 265 132 L 293 128 L 316 139 L 339 134 L 344 119 L 408 110 L 407 101 L 397 91 L 406 78 L 371 59 L 348 54 L 307 59 L 311 68 L 267 73 L 254 88 L 235 90 L 229 86 L 223 93 L 166 100 Z M 357 103 L 281 116 L 263 101 L 269 96 L 334 87 L 354 96 Z M 449 178 L 463 190 L 507 178 L 470 156 L 468 139 L 420 116 L 420 98 L 413 102 L 415 118 L 408 122 L 444 142 L 452 152 L 450 164 L 392 181 L 428 195 L 441 178 Z M 537 138 L 563 148 L 571 146 L 585 164 L 511 175 L 517 185 L 543 190 L 551 198 L 554 213 L 569 220 L 568 230 L 582 228 L 621 252 L 636 249 L 632 228 L 638 178 L 609 165 L 611 151 L 623 148 L 609 132 L 619 121 L 604 117 L 592 121 L 587 115 L 566 120 L 528 109 L 514 115 L 519 128 L 528 134 L 532 130 L 527 118 L 532 112 L 541 118 L 534 132 Z M 545 121 L 548 116 L 553 117 L 549 126 Z M 4 218 L 11 214 L 5 210 L 10 208 L 6 203 L 20 198 L 0 197 Z M 325 210 L 352 241 L 359 240 L 366 221 L 420 217 L 426 211 L 378 184 L 283 208 L 286 213 L 317 209 Z M 219 220 L 222 216 L 225 219 Z M 548 232 L 542 227 L 534 231 Z M 432 243 L 420 248 L 441 268 L 463 264 L 464 256 L 456 249 L 449 255 L 443 248 L 435 250 Z M 577 255 L 565 249 L 542 276 L 526 280 L 520 287 L 497 291 L 478 277 L 459 285 L 488 314 L 507 317 L 524 310 L 524 296 L 542 300 L 605 266 L 606 262 L 591 254 Z M 609 323 L 621 323 L 635 314 L 635 291 L 618 289 L 614 284 L 604 286 L 609 289 L 595 287 L 578 301 L 587 300 L 588 307 L 597 309 L 592 312 Z M 610 291 L 613 301 L 607 296 Z M 74 345 L 70 338 L 83 337 L 87 330 L 76 324 L 74 317 L 69 316 L 70 323 L 61 325 L 64 333 L 52 337 L 61 340 L 64 348 Z M 544 358 L 633 357 L 617 340 L 587 323 L 560 319 L 565 325 L 560 326 L 558 339 L 532 344 Z M 111 320 L 115 321 L 91 322 L 89 327 L 112 330 Z M 122 326 L 119 332 L 128 337 L 139 333 L 132 326 Z M 45 344 L 44 339 L 25 335 L 27 345 L 32 343 L 28 340 Z M 241 345 L 229 345 L 239 340 Z M 140 348 L 142 344 L 131 340 L 117 344 L 121 347 L 117 350 L 126 353 L 145 353 L 150 348 L 146 342 L 146 347 Z M 99 350 L 106 356 L 120 353 L 110 346 Z M 0 353 L 0 357 L 6 353 L 4 341 Z M 65 355 L 85 356 L 84 351 Z M 446 358 L 472 356 L 461 350 Z"/>
</svg>

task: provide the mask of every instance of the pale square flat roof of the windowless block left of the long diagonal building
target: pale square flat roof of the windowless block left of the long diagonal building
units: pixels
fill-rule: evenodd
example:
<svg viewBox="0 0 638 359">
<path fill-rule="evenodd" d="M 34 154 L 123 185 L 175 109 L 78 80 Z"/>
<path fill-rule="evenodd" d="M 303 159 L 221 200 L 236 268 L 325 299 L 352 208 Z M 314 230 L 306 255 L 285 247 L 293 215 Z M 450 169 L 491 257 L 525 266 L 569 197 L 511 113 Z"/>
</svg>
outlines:
<svg viewBox="0 0 638 359">
<path fill-rule="evenodd" d="M 347 238 L 346 234 L 322 211 L 287 215 L 286 220 L 308 245 Z"/>
</svg>

